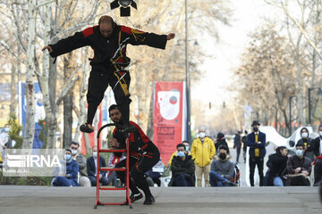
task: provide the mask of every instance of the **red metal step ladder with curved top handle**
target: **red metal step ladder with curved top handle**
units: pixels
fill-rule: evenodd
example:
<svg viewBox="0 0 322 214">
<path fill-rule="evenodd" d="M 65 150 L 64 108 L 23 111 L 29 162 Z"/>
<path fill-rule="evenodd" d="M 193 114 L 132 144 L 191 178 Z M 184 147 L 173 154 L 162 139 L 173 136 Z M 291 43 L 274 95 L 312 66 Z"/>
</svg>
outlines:
<svg viewBox="0 0 322 214">
<path fill-rule="evenodd" d="M 129 138 L 130 138 L 130 133 L 127 134 L 126 137 L 126 149 L 125 150 L 115 150 L 115 149 L 101 149 L 100 141 L 99 141 L 99 136 L 101 131 L 106 128 L 106 127 L 114 127 L 114 123 L 109 123 L 104 125 L 103 127 L 99 128 L 98 133 L 97 133 L 97 198 L 95 202 L 94 209 L 97 209 L 98 205 L 129 205 L 130 208 L 131 206 L 131 200 L 130 200 L 130 191 L 129 191 Z M 100 152 L 125 152 L 126 153 L 126 167 L 125 168 L 106 168 L 106 167 L 99 167 L 99 153 Z M 99 186 L 99 171 L 125 171 L 126 177 L 126 184 L 124 187 L 112 187 L 112 186 Z M 125 190 L 126 196 L 125 196 L 125 201 L 124 202 L 99 202 L 99 191 L 100 190 Z"/>
</svg>

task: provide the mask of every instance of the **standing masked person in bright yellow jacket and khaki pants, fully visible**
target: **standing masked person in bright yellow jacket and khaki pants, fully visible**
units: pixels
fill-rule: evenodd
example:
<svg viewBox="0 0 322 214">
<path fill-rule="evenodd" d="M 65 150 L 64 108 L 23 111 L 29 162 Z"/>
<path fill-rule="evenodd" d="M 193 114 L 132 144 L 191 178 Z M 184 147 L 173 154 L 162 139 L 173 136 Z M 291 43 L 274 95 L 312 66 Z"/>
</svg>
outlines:
<svg viewBox="0 0 322 214">
<path fill-rule="evenodd" d="M 205 186 L 209 185 L 209 172 L 212 157 L 216 153 L 214 142 L 206 136 L 204 129 L 199 129 L 199 137 L 191 145 L 192 160 L 195 161 L 197 186 L 201 187 L 202 174 L 205 177 Z"/>
</svg>

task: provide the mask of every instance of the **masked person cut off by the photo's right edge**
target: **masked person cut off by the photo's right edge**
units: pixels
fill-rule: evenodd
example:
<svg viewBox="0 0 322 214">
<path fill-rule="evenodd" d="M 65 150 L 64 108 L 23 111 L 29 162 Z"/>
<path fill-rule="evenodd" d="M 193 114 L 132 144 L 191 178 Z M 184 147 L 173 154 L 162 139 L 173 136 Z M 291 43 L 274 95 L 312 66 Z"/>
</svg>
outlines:
<svg viewBox="0 0 322 214">
<path fill-rule="evenodd" d="M 318 137 L 312 142 L 313 151 L 316 156 L 314 165 L 314 185 L 322 184 L 322 124 L 318 126 Z"/>
</svg>

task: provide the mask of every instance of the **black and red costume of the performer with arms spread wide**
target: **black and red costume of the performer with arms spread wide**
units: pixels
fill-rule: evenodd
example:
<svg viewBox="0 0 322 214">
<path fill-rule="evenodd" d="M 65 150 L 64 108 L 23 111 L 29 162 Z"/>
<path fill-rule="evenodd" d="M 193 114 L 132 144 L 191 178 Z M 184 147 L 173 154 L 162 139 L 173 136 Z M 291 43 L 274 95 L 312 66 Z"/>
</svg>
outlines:
<svg viewBox="0 0 322 214">
<path fill-rule="evenodd" d="M 52 57 L 72 52 L 86 45 L 90 45 L 94 50 L 94 57 L 90 59 L 92 70 L 89 75 L 87 94 L 89 103 L 87 122 L 89 124 L 93 122 L 97 105 L 103 100 L 108 85 L 114 91 L 114 98 L 122 113 L 123 122 L 128 123 L 129 121 L 131 77 L 127 67 L 131 59 L 126 56 L 126 45 L 128 44 L 165 49 L 166 35 L 160 36 L 114 23 L 110 37 L 103 37 L 97 25 L 61 39 L 55 45 L 50 45 L 53 49 L 50 53 Z"/>
</svg>

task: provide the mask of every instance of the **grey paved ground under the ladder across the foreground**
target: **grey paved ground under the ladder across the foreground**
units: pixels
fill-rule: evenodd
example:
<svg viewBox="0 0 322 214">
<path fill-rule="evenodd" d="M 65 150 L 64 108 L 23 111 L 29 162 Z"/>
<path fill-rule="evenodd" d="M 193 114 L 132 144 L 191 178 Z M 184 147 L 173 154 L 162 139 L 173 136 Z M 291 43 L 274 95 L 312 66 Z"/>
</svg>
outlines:
<svg viewBox="0 0 322 214">
<path fill-rule="evenodd" d="M 98 206 L 94 187 L 0 185 L 0 214 L 44 213 L 321 213 L 317 187 L 154 187 L 154 205 Z M 123 202 L 123 191 L 102 191 L 102 202 Z"/>
</svg>

